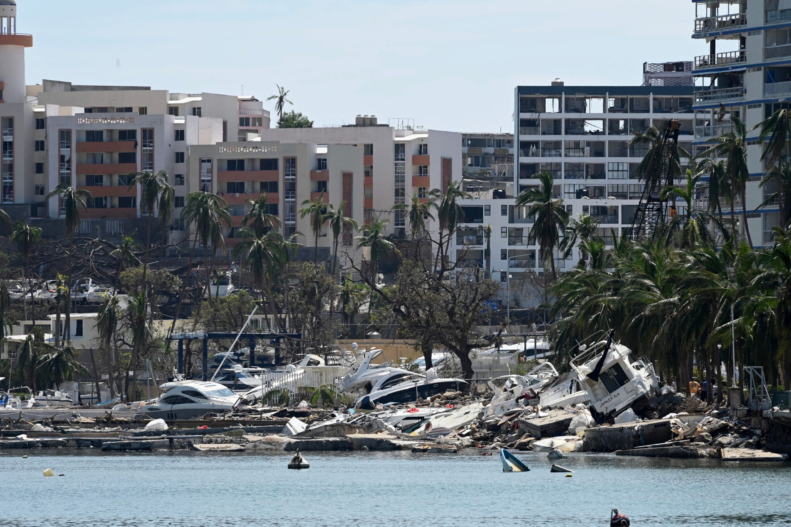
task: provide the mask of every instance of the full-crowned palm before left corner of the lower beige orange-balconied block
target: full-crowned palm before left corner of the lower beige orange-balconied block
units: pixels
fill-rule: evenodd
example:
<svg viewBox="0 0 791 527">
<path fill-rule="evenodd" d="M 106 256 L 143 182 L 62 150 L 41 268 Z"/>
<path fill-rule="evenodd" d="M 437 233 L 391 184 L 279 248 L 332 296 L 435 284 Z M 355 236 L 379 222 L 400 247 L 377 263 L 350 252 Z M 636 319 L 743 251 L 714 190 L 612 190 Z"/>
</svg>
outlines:
<svg viewBox="0 0 791 527">
<path fill-rule="evenodd" d="M 211 297 L 210 274 L 213 267 L 214 253 L 218 247 L 225 247 L 225 238 L 222 235 L 223 222 L 233 225 L 233 219 L 226 208 L 228 203 L 217 194 L 210 192 L 191 192 L 187 194 L 187 204 L 181 212 L 181 217 L 187 224 L 195 225 L 195 232 L 203 246 L 203 258 L 211 256 L 210 264 L 206 266 L 206 289 L 209 292 L 209 305 L 214 307 Z M 210 252 L 208 252 L 210 250 Z M 192 258 L 190 258 L 190 265 Z M 191 267 L 190 267 L 191 272 Z M 179 304 L 181 301 L 179 301 Z"/>
</svg>

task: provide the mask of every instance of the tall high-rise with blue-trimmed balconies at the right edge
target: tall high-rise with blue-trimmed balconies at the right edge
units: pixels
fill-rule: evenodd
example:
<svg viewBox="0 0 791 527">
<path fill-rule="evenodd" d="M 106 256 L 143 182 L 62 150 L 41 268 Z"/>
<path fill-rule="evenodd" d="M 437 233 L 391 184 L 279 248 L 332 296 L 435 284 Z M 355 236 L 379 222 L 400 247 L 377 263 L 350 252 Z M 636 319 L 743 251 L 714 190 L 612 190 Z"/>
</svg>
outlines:
<svg viewBox="0 0 791 527">
<path fill-rule="evenodd" d="M 747 202 L 738 198 L 735 209 L 744 236 L 741 213 L 746 207 L 752 243 L 760 247 L 771 242 L 771 228 L 780 218 L 777 205 L 757 209 L 777 186 L 759 188 L 766 166 L 759 130 L 751 129 L 774 111 L 791 107 L 791 2 L 695 2 L 695 9 L 692 38 L 705 41 L 709 49 L 694 58 L 694 144 L 699 151 L 711 137 L 730 131 L 734 115 L 747 125 Z M 725 204 L 723 213 L 730 214 Z"/>
</svg>

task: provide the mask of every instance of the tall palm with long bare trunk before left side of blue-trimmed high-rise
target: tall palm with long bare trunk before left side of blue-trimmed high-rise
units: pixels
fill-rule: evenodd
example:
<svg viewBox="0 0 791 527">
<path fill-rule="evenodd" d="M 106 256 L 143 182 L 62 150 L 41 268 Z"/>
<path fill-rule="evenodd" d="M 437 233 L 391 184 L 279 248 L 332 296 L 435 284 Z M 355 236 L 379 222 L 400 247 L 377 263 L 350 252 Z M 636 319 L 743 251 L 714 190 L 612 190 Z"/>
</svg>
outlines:
<svg viewBox="0 0 791 527">
<path fill-rule="evenodd" d="M 747 235 L 747 243 L 753 247 L 750 228 L 747 225 L 747 179 L 750 177 L 750 171 L 747 170 L 747 126 L 744 126 L 744 122 L 734 115 L 731 131 L 713 137 L 709 142 L 713 143 L 711 150 L 716 152 L 717 156 L 725 157 L 725 174 L 731 189 L 731 224 L 734 235 L 736 235 L 736 220 L 733 216 L 733 201 L 738 190 L 742 199 L 744 233 Z"/>
</svg>

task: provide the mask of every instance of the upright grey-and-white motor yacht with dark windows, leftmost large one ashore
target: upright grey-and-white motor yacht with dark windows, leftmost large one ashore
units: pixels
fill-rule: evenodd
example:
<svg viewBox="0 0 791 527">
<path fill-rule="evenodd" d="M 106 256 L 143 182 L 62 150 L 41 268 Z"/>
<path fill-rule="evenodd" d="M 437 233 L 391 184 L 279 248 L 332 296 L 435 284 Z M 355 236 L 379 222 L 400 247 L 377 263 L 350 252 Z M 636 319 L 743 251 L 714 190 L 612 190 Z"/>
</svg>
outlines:
<svg viewBox="0 0 791 527">
<path fill-rule="evenodd" d="M 153 404 L 142 406 L 138 415 L 151 419 L 192 420 L 208 413 L 234 408 L 239 396 L 217 382 L 184 382 L 165 392 Z"/>
</svg>

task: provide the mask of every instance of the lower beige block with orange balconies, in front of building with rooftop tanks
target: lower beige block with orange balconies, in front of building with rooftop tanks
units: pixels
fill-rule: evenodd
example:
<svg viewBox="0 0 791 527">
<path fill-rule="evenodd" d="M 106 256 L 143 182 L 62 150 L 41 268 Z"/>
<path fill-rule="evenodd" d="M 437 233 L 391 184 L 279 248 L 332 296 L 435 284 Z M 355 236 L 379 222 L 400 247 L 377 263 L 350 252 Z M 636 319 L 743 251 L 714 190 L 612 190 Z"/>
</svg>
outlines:
<svg viewBox="0 0 791 527">
<path fill-rule="evenodd" d="M 233 248 L 240 241 L 236 232 L 250 210 L 250 201 L 264 193 L 268 213 L 281 221 L 281 232 L 300 232 L 297 242 L 306 247 L 316 247 L 316 237 L 310 217 L 302 218 L 299 210 L 305 200 L 315 200 L 321 193 L 324 201 L 336 208 L 345 201 L 344 214 L 363 224 L 365 169 L 361 146 L 254 140 L 191 145 L 187 158 L 188 188 L 214 192 L 229 205 L 233 225 L 225 232 L 226 247 Z M 343 233 L 339 253 L 354 258 L 354 235 Z M 333 243 L 325 224 L 318 247 L 328 250 Z M 327 250 L 322 251 L 322 258 Z"/>
</svg>

